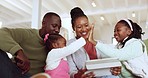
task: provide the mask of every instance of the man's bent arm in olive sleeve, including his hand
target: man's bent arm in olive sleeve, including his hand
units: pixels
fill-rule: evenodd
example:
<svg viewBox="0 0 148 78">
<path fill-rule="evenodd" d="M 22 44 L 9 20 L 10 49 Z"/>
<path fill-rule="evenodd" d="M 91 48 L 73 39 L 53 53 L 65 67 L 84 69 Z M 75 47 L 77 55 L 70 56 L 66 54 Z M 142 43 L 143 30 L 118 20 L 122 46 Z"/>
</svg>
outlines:
<svg viewBox="0 0 148 78">
<path fill-rule="evenodd" d="M 0 45 L 0 49 L 16 55 L 17 60 L 20 60 L 17 62 L 17 65 L 24 71 L 23 73 L 25 73 L 30 68 L 30 62 L 19 45 L 21 41 L 24 40 L 24 37 L 26 37 L 25 35 L 27 35 L 25 31 L 21 31 L 22 30 L 8 28 L 0 29 L 0 43 L 3 44 Z"/>
</svg>

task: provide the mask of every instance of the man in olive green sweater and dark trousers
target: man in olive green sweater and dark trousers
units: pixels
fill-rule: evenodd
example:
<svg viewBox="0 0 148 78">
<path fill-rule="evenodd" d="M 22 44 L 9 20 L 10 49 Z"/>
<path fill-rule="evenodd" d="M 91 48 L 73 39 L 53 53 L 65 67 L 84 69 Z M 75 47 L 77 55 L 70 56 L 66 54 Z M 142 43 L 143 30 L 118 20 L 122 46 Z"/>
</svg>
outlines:
<svg viewBox="0 0 148 78">
<path fill-rule="evenodd" d="M 61 18 L 53 12 L 45 14 L 42 28 L 0 29 L 0 77 L 26 78 L 26 73 L 34 75 L 44 72 L 47 51 L 43 42 L 45 34 L 59 33 Z M 15 64 L 6 52 L 15 56 Z"/>
</svg>

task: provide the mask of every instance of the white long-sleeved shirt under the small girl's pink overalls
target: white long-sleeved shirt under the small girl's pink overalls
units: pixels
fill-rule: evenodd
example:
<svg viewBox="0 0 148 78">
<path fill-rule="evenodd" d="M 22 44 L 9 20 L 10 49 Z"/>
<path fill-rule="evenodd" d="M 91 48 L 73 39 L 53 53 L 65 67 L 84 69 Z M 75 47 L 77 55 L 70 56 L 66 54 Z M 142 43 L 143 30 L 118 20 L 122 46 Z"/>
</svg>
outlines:
<svg viewBox="0 0 148 78">
<path fill-rule="evenodd" d="M 85 44 L 85 39 L 81 37 L 66 47 L 52 49 L 47 55 L 45 70 L 55 69 L 59 65 L 62 58 L 66 60 L 66 56 L 76 52 Z"/>
</svg>

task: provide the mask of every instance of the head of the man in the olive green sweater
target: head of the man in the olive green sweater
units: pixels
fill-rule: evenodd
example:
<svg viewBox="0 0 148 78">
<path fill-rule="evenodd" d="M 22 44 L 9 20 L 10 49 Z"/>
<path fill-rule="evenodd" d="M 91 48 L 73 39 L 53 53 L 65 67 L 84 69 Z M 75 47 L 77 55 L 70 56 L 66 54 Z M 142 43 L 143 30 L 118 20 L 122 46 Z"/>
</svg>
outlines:
<svg viewBox="0 0 148 78">
<path fill-rule="evenodd" d="M 39 31 L 39 34 L 42 38 L 46 34 L 59 33 L 61 28 L 61 19 L 58 15 L 49 14 L 43 18 L 42 28 Z"/>
</svg>

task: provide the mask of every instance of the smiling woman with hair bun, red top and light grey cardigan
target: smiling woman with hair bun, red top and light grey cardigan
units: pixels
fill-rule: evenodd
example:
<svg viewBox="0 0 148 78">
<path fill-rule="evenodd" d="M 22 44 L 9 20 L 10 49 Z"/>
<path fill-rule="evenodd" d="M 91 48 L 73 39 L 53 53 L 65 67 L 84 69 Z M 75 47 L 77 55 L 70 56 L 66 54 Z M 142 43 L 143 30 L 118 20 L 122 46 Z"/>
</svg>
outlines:
<svg viewBox="0 0 148 78">
<path fill-rule="evenodd" d="M 91 30 L 87 16 L 79 7 L 73 8 L 70 14 L 72 18 L 72 28 L 76 33 L 76 37 L 74 39 L 69 40 L 68 44 L 79 39 L 80 37 L 83 37 L 85 38 L 85 40 L 87 40 L 89 32 Z M 67 57 L 70 66 L 71 78 L 95 77 L 95 74 L 93 72 L 84 74 L 87 71 L 85 69 L 85 62 L 86 60 L 101 58 L 102 57 L 100 56 L 99 50 L 97 50 L 92 43 L 86 41 L 84 47 L 80 48 L 79 50 L 77 50 L 77 52 Z M 120 72 L 115 71 L 114 75 L 118 75 L 119 73 Z"/>
</svg>

